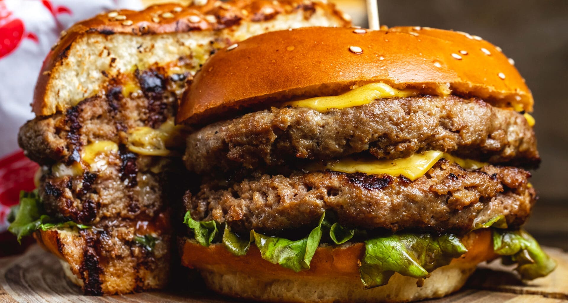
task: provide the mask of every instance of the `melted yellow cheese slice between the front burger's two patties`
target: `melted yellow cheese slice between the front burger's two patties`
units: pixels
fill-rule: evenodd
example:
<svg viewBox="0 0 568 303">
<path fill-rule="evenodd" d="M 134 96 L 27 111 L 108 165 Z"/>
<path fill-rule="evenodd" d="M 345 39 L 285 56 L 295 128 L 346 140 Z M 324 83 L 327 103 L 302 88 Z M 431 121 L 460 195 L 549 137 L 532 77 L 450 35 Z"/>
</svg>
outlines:
<svg viewBox="0 0 568 303">
<path fill-rule="evenodd" d="M 325 169 L 344 173 L 404 176 L 411 181 L 414 181 L 421 176 L 424 176 L 424 174 L 442 158 L 449 160 L 450 162 L 457 163 L 464 169 L 478 169 L 487 164 L 475 160 L 461 159 L 441 151 L 427 151 L 424 153 L 415 153 L 410 157 L 395 160 L 355 160 L 346 158 L 329 163 Z"/>
</svg>

